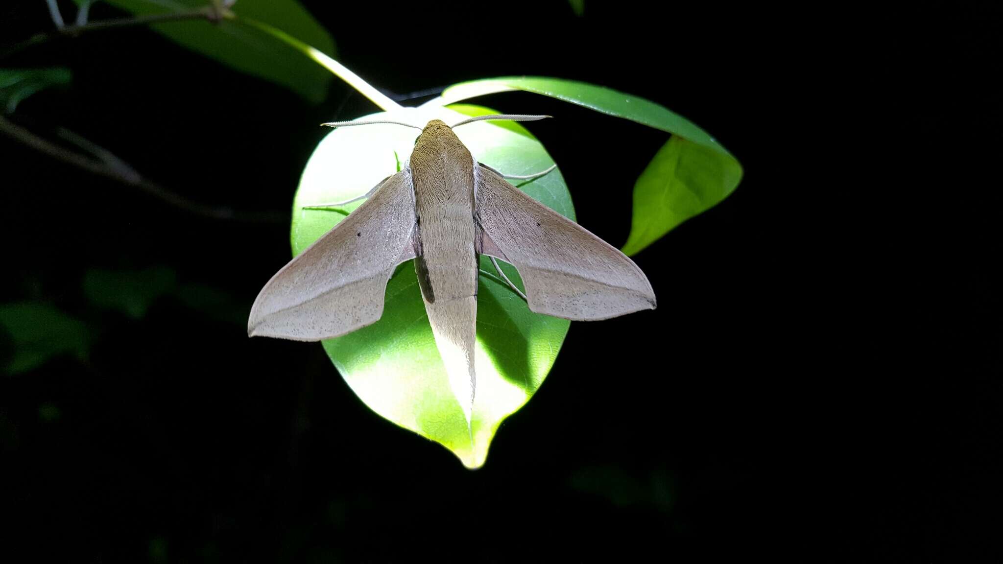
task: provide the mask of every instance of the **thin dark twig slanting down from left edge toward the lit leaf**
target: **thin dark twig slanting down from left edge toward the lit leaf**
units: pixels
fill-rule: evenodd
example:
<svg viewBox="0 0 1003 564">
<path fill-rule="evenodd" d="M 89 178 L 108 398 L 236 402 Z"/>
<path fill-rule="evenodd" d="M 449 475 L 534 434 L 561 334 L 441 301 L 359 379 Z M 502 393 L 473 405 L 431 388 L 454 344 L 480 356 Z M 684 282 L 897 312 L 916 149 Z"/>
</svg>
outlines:
<svg viewBox="0 0 1003 564">
<path fill-rule="evenodd" d="M 184 196 L 160 187 L 137 173 L 132 167 L 115 157 L 111 152 L 86 138 L 60 128 L 58 134 L 64 139 L 83 149 L 95 158 L 86 157 L 59 147 L 52 142 L 36 135 L 28 129 L 0 115 L 0 132 L 20 142 L 35 151 L 54 157 L 63 163 L 73 165 L 89 173 L 118 181 L 198 216 L 217 220 L 234 220 L 253 223 L 282 223 L 288 221 L 285 215 L 275 212 L 246 212 L 227 207 L 208 206 L 193 202 Z"/>
</svg>

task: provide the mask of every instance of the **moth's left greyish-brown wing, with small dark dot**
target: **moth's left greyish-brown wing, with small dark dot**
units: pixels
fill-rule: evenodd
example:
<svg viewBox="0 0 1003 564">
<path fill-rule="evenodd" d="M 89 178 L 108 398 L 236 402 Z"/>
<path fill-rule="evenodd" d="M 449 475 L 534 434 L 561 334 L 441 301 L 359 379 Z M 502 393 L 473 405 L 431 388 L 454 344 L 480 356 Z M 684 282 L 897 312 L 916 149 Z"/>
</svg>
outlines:
<svg viewBox="0 0 1003 564">
<path fill-rule="evenodd" d="M 394 267 L 415 256 L 414 226 L 405 169 L 265 284 L 248 334 L 315 341 L 374 323 Z"/>
</svg>

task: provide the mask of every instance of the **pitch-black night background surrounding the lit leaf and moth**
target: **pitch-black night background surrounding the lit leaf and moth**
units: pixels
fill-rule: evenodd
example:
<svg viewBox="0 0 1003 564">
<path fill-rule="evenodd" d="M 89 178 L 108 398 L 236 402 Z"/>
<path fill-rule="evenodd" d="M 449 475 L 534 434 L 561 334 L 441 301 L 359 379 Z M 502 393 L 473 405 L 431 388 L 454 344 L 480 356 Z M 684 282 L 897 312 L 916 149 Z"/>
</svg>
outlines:
<svg viewBox="0 0 1003 564">
<path fill-rule="evenodd" d="M 3 301 L 54 304 L 99 335 L 86 363 L 0 378 L 4 551 L 998 560 L 998 7 L 304 4 L 389 93 L 509 74 L 603 84 L 700 124 L 744 180 L 635 257 L 658 310 L 573 324 L 470 472 L 370 411 L 319 345 L 247 338 L 288 223 L 197 217 L 0 137 Z M 51 27 L 41 2 L 0 17 L 5 44 Z M 143 28 L 0 64 L 74 73 L 18 123 L 68 127 L 193 200 L 280 215 L 316 124 L 374 109 L 338 81 L 311 106 Z M 557 116 L 531 128 L 579 222 L 625 240 L 664 133 L 528 93 L 478 101 Z M 133 320 L 81 290 L 89 268 L 155 266 L 229 295 L 236 322 L 171 298 Z"/>
</svg>

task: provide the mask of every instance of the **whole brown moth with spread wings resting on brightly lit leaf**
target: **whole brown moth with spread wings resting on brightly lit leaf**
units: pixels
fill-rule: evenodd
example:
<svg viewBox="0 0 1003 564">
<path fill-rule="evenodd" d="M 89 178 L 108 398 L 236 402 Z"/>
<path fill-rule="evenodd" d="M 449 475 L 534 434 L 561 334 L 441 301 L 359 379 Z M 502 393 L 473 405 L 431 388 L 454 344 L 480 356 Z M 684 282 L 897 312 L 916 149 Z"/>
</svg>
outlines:
<svg viewBox="0 0 1003 564">
<path fill-rule="evenodd" d="M 248 334 L 316 341 L 370 325 L 383 313 L 395 268 L 413 260 L 435 345 L 469 426 L 479 255 L 491 258 L 537 313 L 590 321 L 654 309 L 651 284 L 632 260 L 477 163 L 452 130 L 481 119 L 543 117 L 549 116 L 482 115 L 452 126 L 432 119 L 424 127 L 325 123 L 389 122 L 421 134 L 407 166 L 355 199 L 366 201 L 265 284 Z M 495 259 L 516 267 L 525 294 Z"/>
</svg>

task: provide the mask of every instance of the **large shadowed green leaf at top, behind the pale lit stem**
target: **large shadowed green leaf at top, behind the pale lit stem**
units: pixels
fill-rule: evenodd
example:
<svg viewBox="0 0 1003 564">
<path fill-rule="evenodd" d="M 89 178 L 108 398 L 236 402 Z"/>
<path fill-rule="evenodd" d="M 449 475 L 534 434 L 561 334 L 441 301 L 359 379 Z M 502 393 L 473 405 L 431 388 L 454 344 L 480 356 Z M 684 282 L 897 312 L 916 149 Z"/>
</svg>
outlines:
<svg viewBox="0 0 1003 564">
<path fill-rule="evenodd" d="M 82 0 L 75 0 L 81 4 Z M 209 0 L 107 0 L 136 16 L 185 12 L 210 5 Z M 151 25 L 155 31 L 194 51 L 242 72 L 282 84 L 307 100 L 319 103 L 327 96 L 332 75 L 298 47 L 255 26 L 251 18 L 334 55 L 334 40 L 295 0 L 240 0 L 231 8 L 234 19 L 218 22 L 186 20 Z M 184 64 L 184 63 L 182 63 Z"/>
</svg>

